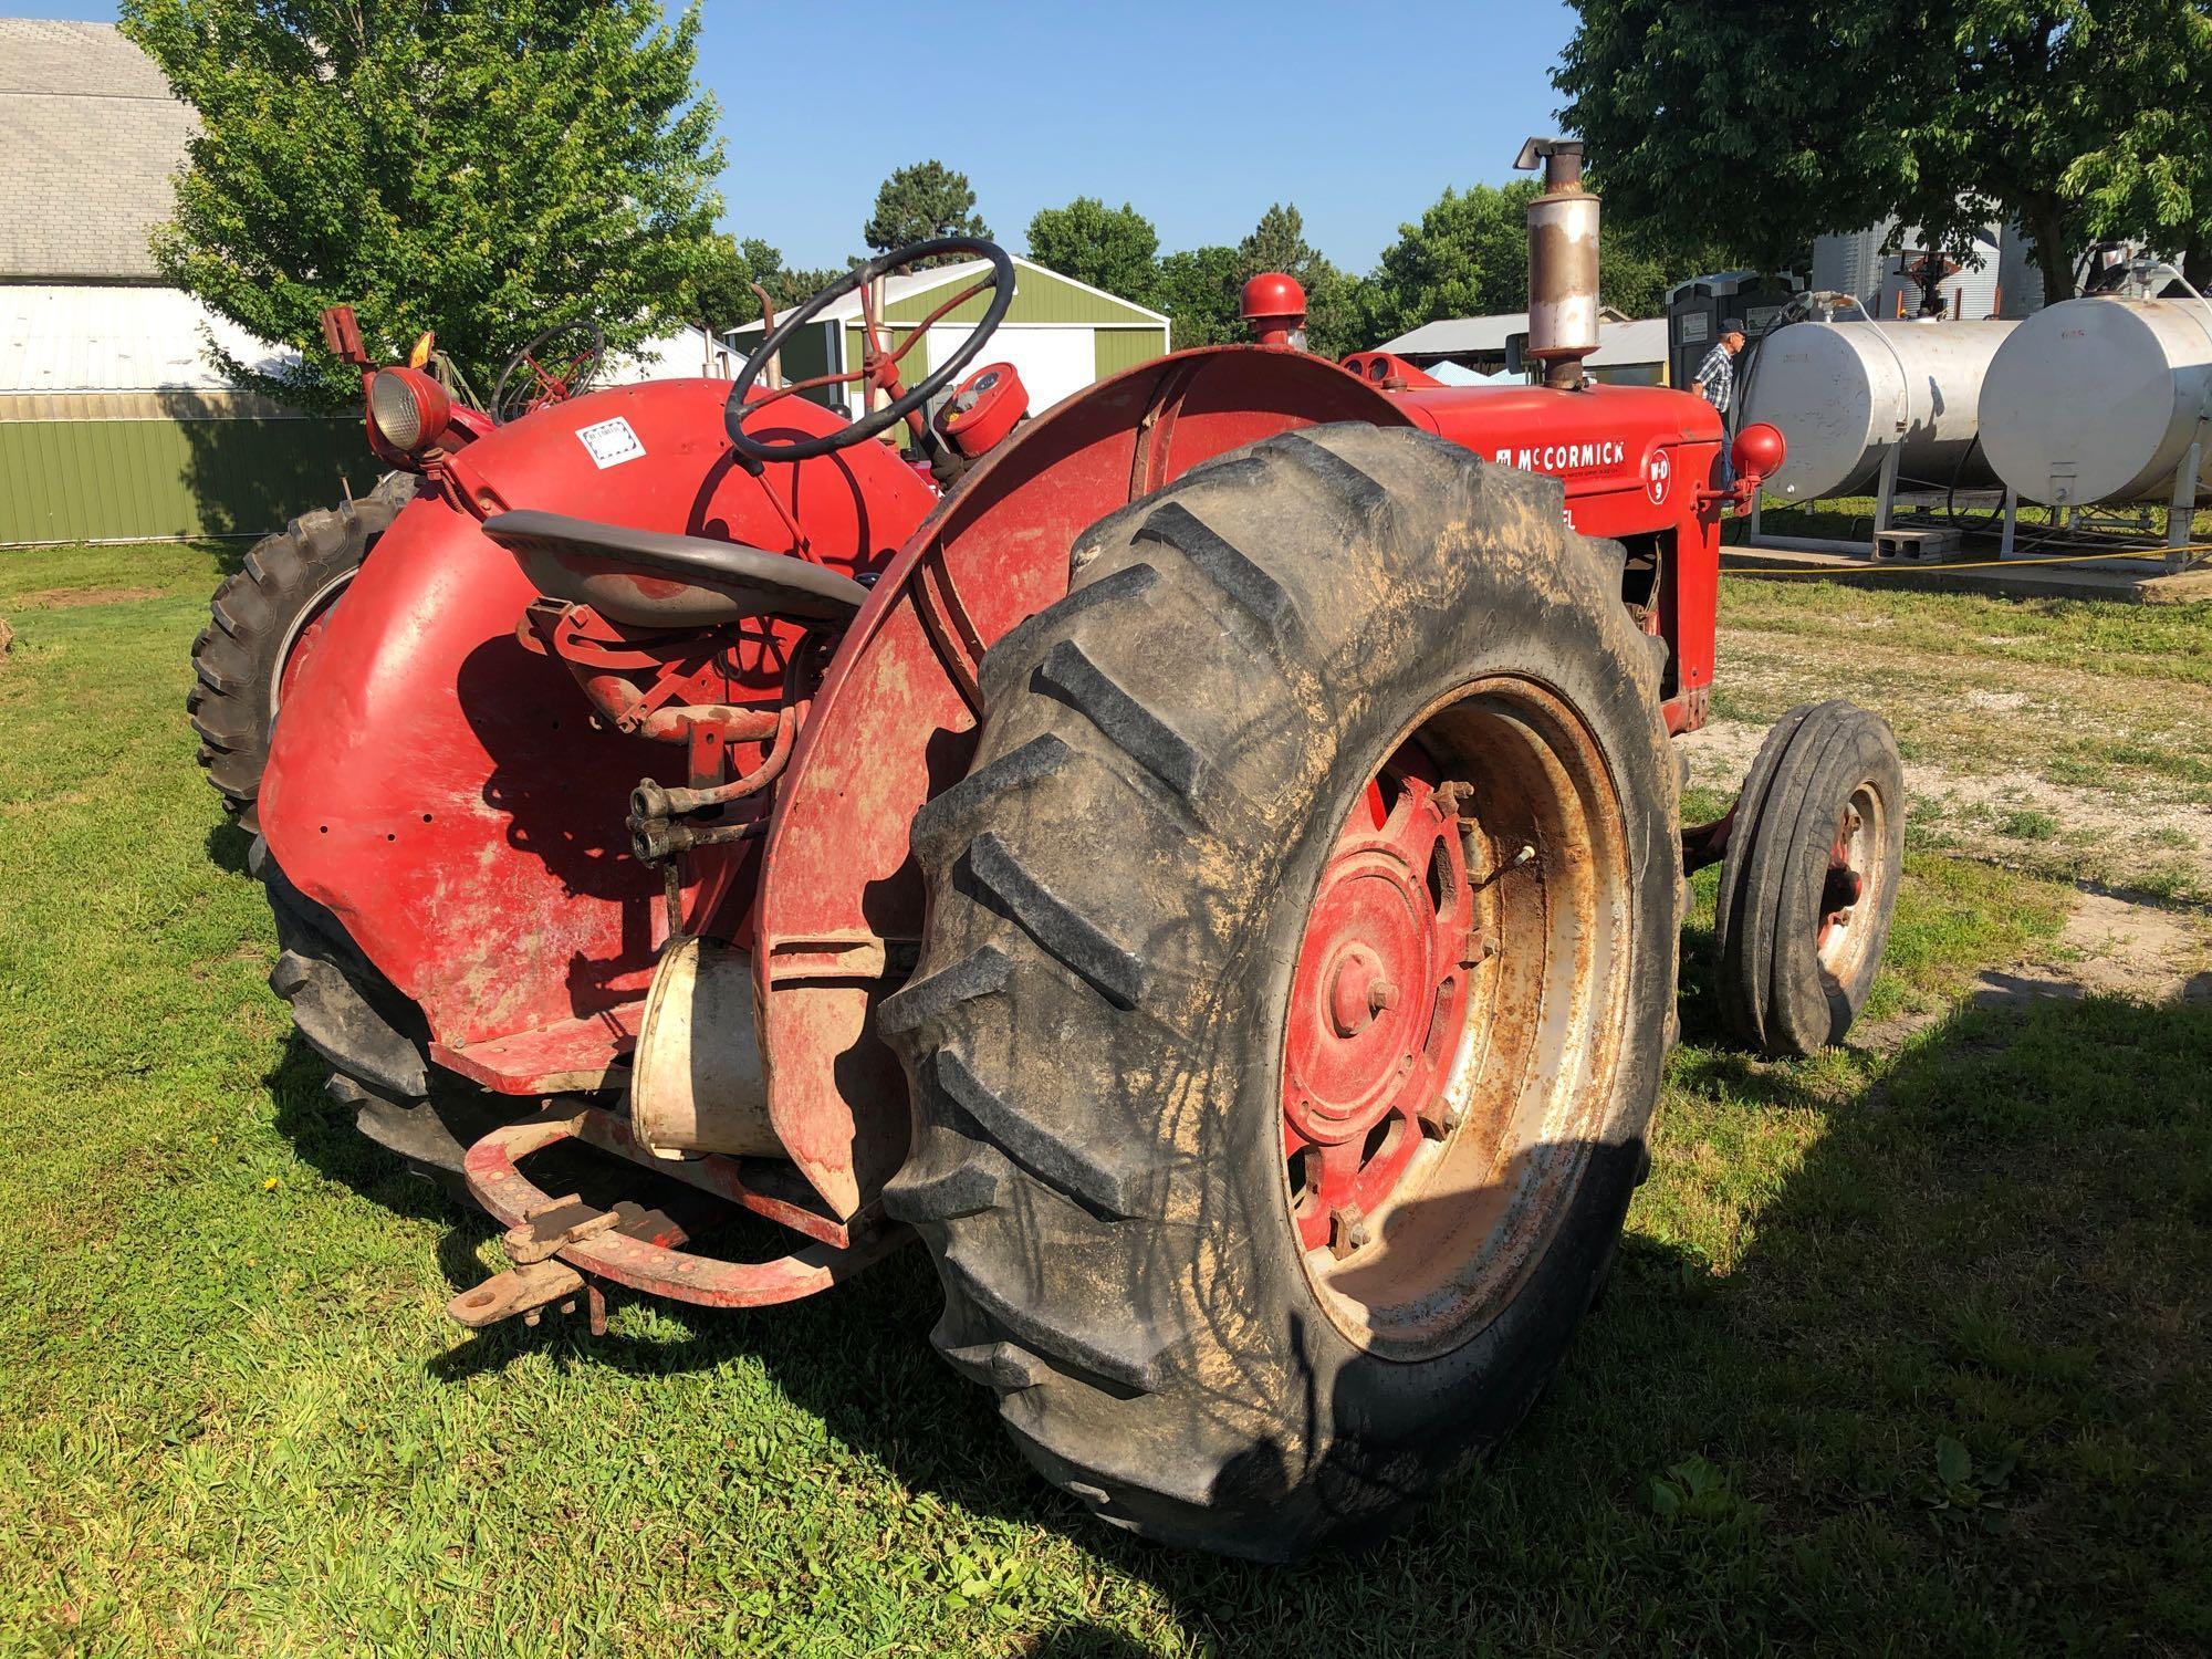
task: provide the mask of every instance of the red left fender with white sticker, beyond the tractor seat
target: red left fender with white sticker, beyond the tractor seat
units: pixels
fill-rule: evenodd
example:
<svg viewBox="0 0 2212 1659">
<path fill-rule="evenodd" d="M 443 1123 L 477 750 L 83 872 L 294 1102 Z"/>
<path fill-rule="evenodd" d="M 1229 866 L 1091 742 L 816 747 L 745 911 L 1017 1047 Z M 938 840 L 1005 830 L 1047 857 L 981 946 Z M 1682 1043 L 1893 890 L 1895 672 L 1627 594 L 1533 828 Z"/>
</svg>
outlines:
<svg viewBox="0 0 2212 1659">
<path fill-rule="evenodd" d="M 726 392 L 657 380 L 562 403 L 469 445 L 462 478 L 502 507 L 770 549 L 790 544 L 763 493 L 776 489 L 814 555 L 847 571 L 885 564 L 929 511 L 931 491 L 880 445 L 772 467 L 765 484 L 732 469 Z M 838 425 L 792 405 L 794 429 Z M 595 460 L 580 436 L 595 427 L 619 458 Z M 301 666 L 261 787 L 283 872 L 422 1006 L 445 1057 L 524 1093 L 586 1084 L 626 1046 L 617 1011 L 659 942 L 628 792 L 681 781 L 681 750 L 595 730 L 566 668 L 515 641 L 533 597 L 451 489 L 420 495 Z M 763 661 L 734 668 L 726 697 L 779 690 Z M 750 920 L 728 909 L 717 931 Z M 498 1044 L 524 1033 L 540 1033 L 529 1060 L 504 1064 Z"/>
</svg>

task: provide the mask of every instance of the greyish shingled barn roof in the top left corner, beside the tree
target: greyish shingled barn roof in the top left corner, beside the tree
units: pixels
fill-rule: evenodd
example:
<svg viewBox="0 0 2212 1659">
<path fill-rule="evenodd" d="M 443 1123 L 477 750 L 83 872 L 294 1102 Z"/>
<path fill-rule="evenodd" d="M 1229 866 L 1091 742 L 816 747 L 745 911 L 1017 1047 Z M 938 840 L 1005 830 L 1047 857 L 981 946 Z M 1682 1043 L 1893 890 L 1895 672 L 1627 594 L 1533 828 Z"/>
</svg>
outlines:
<svg viewBox="0 0 2212 1659">
<path fill-rule="evenodd" d="M 0 281 L 155 283 L 192 111 L 104 22 L 0 18 Z"/>
</svg>

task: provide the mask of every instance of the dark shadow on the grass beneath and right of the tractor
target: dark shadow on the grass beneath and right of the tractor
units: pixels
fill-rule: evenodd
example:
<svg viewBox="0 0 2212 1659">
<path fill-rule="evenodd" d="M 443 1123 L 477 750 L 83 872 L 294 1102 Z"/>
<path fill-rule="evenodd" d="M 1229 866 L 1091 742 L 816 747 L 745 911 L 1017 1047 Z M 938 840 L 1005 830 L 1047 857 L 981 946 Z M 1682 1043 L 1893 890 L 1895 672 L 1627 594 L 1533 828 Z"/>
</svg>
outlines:
<svg viewBox="0 0 2212 1659">
<path fill-rule="evenodd" d="M 1995 1630 L 2022 1650 L 2212 1644 L 2192 1588 L 2212 1006 L 1966 1004 L 1893 1055 L 1785 1066 L 1712 1044 L 1694 953 L 1686 973 L 1655 1179 L 1599 1305 L 1522 1429 L 1371 1551 L 1272 1568 L 1099 1526 L 929 1349 L 916 1250 L 757 1314 L 628 1303 L 604 1340 L 507 1325 L 429 1371 L 531 1347 L 641 1376 L 752 1356 L 900 1482 L 1066 1535 L 1088 1575 L 1144 1582 L 1221 1652 L 1584 1652 L 1621 1632 L 1858 1650 L 1869 1628 L 1929 1650 Z M 290 1124 L 303 1155 L 442 1214 L 440 1263 L 476 1283 L 489 1223 L 361 1141 L 296 1060 L 279 1099 L 299 1097 L 281 1124 L 319 1119 Z M 1073 1615 L 1029 1650 L 1146 1648 Z"/>
</svg>

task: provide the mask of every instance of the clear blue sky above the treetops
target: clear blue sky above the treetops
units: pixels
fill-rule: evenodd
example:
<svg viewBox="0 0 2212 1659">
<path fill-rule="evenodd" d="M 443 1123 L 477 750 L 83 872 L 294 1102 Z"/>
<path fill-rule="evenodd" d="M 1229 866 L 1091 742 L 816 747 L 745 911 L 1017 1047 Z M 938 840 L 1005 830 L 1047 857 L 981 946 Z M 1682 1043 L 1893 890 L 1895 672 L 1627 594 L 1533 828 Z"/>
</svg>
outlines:
<svg viewBox="0 0 2212 1659">
<path fill-rule="evenodd" d="M 1077 195 L 1133 201 L 1164 248 L 1237 241 L 1296 201 L 1307 239 L 1365 270 L 1447 184 L 1502 181 L 1553 131 L 1571 31 L 1557 0 L 706 0 L 699 71 L 723 111 L 723 226 L 794 265 L 843 263 L 883 177 L 940 157 L 1011 248 Z"/>
</svg>

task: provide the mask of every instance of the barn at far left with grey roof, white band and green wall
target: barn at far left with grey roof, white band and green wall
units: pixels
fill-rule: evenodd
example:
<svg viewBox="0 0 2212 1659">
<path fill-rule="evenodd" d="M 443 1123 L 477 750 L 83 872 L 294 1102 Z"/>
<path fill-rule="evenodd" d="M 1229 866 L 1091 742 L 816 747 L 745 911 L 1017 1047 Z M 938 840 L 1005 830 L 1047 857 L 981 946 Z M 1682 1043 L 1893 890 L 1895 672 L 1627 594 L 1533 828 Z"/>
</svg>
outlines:
<svg viewBox="0 0 2212 1659">
<path fill-rule="evenodd" d="M 283 356 L 161 283 L 192 113 L 108 24 L 0 18 L 0 546 L 259 535 L 376 480 L 358 418 L 234 392 Z"/>
</svg>

